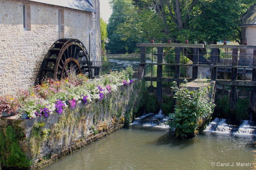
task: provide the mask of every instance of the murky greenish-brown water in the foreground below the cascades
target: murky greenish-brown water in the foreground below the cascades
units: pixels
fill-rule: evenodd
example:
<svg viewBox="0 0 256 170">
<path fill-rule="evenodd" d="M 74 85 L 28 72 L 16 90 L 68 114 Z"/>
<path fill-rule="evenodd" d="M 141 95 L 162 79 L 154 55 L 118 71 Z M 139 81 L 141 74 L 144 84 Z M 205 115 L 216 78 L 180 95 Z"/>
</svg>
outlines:
<svg viewBox="0 0 256 170">
<path fill-rule="evenodd" d="M 194 138 L 184 140 L 175 138 L 174 131 L 166 127 L 132 124 L 44 170 L 249 170 L 249 166 L 237 166 L 237 162 L 251 163 L 255 139 L 255 135 L 204 131 Z M 229 166 L 217 166 L 221 163 Z"/>
</svg>

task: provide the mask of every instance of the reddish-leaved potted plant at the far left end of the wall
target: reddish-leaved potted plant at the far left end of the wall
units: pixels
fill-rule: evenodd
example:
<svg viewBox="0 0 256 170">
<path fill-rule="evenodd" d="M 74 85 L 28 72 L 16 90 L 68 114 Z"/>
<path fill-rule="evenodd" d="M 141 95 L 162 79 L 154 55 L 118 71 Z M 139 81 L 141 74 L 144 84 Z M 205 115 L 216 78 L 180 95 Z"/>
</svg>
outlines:
<svg viewBox="0 0 256 170">
<path fill-rule="evenodd" d="M 7 112 L 7 114 L 15 113 L 18 111 L 20 103 L 18 99 L 12 95 L 0 97 L 0 113 Z"/>
</svg>

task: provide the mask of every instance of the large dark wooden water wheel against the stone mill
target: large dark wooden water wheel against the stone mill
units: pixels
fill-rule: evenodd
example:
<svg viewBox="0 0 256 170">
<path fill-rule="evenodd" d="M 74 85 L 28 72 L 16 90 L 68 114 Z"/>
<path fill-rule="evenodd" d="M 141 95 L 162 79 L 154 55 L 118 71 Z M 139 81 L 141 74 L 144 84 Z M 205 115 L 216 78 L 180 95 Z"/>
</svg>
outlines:
<svg viewBox="0 0 256 170">
<path fill-rule="evenodd" d="M 77 39 L 60 39 L 52 44 L 45 56 L 42 78 L 61 79 L 68 70 L 75 70 L 77 74 L 88 73 L 89 78 L 92 75 L 90 56 Z"/>
</svg>

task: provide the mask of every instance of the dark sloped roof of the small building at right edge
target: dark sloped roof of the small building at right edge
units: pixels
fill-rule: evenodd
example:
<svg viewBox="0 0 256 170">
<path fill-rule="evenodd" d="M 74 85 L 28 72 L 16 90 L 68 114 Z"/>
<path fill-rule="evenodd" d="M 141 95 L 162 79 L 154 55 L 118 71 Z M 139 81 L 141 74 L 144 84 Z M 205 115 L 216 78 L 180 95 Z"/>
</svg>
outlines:
<svg viewBox="0 0 256 170">
<path fill-rule="evenodd" d="M 248 8 L 246 13 L 244 13 L 242 18 L 242 25 L 240 26 L 248 26 L 248 25 L 256 25 L 256 4 L 253 4 Z"/>
</svg>

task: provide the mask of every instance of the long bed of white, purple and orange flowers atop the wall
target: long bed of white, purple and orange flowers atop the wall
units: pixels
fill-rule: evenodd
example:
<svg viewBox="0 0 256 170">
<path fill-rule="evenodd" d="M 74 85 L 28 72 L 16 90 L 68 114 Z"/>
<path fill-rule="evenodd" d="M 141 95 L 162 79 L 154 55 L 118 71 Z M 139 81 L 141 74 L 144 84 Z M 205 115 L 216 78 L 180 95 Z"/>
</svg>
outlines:
<svg viewBox="0 0 256 170">
<path fill-rule="evenodd" d="M 20 89 L 11 97 L 16 100 L 8 100 L 8 107 L 3 101 L 0 101 L 0 106 L 7 108 L 5 110 L 8 112 L 17 112 L 19 109 L 19 114 L 27 114 L 28 119 L 36 116 L 48 117 L 51 114 L 61 114 L 65 107 L 73 108 L 80 102 L 101 100 L 107 93 L 115 92 L 119 86 L 133 83 L 130 80 L 133 74 L 130 68 L 120 72 L 111 71 L 110 74 L 93 81 L 82 74 L 76 75 L 73 70 L 69 70 L 67 74 L 62 80 L 46 78 L 41 85 L 28 90 Z"/>
</svg>

